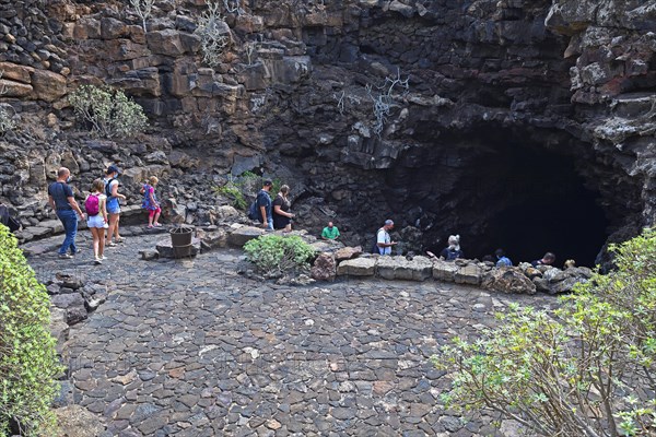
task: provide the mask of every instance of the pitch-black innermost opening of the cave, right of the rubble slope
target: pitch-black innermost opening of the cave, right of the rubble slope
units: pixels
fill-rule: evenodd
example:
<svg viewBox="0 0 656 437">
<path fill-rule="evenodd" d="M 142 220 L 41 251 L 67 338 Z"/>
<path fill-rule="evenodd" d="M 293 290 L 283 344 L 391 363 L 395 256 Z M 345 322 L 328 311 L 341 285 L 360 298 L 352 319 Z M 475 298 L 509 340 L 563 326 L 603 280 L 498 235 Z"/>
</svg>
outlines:
<svg viewBox="0 0 656 437">
<path fill-rule="evenodd" d="M 482 257 L 504 248 L 515 263 L 539 259 L 546 251 L 578 265 L 594 265 L 608 237 L 609 221 L 600 194 L 585 185 L 575 162 L 546 149 L 504 144 L 481 157 L 493 214 L 472 255 Z M 484 172 L 483 172 L 484 174 Z M 484 192 L 484 191 L 483 191 Z M 472 243 L 476 241 L 472 240 Z"/>
</svg>

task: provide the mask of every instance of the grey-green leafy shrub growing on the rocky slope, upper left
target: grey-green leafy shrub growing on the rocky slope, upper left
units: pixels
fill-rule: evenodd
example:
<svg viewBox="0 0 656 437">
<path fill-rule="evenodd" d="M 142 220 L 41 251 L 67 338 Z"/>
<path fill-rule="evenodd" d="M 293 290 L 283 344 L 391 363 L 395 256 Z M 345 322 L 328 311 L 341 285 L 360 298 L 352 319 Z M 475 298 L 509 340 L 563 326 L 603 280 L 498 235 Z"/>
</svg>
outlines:
<svg viewBox="0 0 656 437">
<path fill-rule="evenodd" d="M 148 125 L 143 108 L 120 90 L 82 85 L 68 98 L 78 117 L 103 138 L 131 135 Z"/>
</svg>

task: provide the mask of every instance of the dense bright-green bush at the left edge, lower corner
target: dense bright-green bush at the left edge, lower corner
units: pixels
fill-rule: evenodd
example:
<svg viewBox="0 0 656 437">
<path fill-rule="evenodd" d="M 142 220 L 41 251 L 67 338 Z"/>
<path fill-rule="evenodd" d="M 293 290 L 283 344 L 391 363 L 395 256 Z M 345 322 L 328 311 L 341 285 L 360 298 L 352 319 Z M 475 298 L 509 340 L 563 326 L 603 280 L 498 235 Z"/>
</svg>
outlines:
<svg viewBox="0 0 656 437">
<path fill-rule="evenodd" d="M 0 435 L 52 435 L 50 413 L 62 371 L 50 335 L 50 300 L 16 239 L 0 224 Z"/>
</svg>

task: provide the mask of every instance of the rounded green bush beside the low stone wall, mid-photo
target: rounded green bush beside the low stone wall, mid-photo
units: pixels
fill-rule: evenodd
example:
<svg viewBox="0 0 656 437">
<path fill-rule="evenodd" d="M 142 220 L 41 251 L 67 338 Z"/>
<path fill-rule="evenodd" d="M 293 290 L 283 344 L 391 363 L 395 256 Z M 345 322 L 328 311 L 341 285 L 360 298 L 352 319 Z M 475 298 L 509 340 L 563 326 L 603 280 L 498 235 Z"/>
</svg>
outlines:
<svg viewBox="0 0 656 437">
<path fill-rule="evenodd" d="M 298 236 L 262 235 L 246 243 L 248 260 L 268 277 L 308 269 L 315 250 Z"/>
</svg>

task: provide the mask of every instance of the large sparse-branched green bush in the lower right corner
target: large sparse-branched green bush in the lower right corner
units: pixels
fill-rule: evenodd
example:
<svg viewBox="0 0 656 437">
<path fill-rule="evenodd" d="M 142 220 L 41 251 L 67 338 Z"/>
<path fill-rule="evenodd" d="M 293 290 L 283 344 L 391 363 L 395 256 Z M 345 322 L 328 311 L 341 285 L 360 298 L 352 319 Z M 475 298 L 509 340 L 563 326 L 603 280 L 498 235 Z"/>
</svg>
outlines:
<svg viewBox="0 0 656 437">
<path fill-rule="evenodd" d="M 543 436 L 654 435 L 656 232 L 611 250 L 617 270 L 559 309 L 513 305 L 481 339 L 443 347 L 447 406 L 489 408 Z"/>
</svg>

